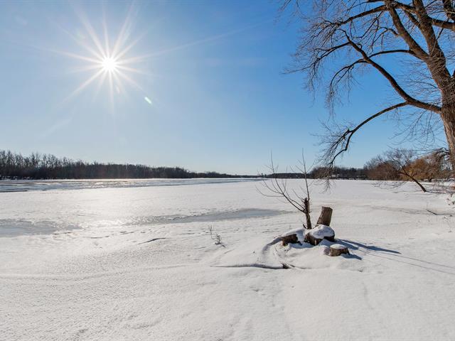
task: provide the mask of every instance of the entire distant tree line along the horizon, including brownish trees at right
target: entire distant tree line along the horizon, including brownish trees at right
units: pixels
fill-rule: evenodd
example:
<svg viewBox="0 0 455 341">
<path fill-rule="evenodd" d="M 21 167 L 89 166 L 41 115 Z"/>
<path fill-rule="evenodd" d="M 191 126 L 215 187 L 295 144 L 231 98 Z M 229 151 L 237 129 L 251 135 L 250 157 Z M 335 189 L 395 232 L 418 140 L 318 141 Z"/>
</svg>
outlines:
<svg viewBox="0 0 455 341">
<path fill-rule="evenodd" d="M 320 166 L 308 172 L 308 178 L 326 178 L 328 168 Z M 387 151 L 372 158 L 363 168 L 330 168 L 331 178 L 358 180 L 412 180 L 414 182 L 446 179 L 451 164 L 446 151 L 437 150 L 418 156 L 406 149 Z M 181 167 L 150 167 L 145 165 L 99 163 L 58 158 L 51 154 L 21 153 L 0 150 L 1 179 L 116 179 L 116 178 L 304 178 L 304 173 L 230 175 L 196 173 Z"/>
</svg>

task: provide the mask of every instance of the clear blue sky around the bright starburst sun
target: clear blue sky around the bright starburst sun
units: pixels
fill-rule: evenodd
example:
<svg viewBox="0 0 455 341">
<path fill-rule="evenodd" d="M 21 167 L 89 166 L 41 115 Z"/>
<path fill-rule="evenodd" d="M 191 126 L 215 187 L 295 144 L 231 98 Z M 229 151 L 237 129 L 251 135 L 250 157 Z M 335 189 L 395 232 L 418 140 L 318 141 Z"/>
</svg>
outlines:
<svg viewBox="0 0 455 341">
<path fill-rule="evenodd" d="M 265 171 L 271 151 L 284 168 L 302 148 L 309 163 L 320 150 L 323 94 L 313 100 L 302 75 L 284 75 L 298 26 L 278 18 L 274 1 L 0 7 L 2 149 L 244 174 Z M 82 70 L 93 63 L 74 58 L 90 57 L 84 46 L 96 50 L 84 23 L 103 46 L 106 26 L 112 48 L 127 18 L 123 47 L 139 39 L 122 57 L 137 59 L 138 72 L 124 71 L 132 82 L 122 80 L 111 94 L 109 82 L 97 79 L 74 94 L 98 70 Z M 386 88 L 368 73 L 337 108 L 338 119 L 378 111 Z M 341 164 L 363 166 L 391 146 L 394 124 L 378 120 L 360 131 Z"/>
</svg>

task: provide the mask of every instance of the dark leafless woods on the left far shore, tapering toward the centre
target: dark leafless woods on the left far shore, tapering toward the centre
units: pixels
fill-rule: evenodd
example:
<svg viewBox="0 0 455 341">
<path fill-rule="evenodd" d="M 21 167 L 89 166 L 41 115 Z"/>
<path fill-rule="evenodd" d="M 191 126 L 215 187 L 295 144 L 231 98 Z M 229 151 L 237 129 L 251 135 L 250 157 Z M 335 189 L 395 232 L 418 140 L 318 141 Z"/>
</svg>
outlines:
<svg viewBox="0 0 455 341">
<path fill-rule="evenodd" d="M 0 179 L 114 179 L 114 178 L 245 178 L 250 175 L 196 173 L 181 167 L 99 163 L 58 158 L 51 154 L 0 151 Z"/>
</svg>

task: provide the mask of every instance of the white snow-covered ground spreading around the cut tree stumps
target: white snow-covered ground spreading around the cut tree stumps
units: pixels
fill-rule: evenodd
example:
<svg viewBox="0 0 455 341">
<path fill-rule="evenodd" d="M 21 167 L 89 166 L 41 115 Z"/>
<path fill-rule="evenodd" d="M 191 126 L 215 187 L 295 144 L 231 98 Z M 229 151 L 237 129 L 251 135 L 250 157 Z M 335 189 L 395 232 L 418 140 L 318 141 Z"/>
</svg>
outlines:
<svg viewBox="0 0 455 341">
<path fill-rule="evenodd" d="M 0 340 L 455 340 L 447 195 L 313 187 L 331 257 L 269 244 L 303 217 L 257 185 L 0 193 Z"/>
</svg>

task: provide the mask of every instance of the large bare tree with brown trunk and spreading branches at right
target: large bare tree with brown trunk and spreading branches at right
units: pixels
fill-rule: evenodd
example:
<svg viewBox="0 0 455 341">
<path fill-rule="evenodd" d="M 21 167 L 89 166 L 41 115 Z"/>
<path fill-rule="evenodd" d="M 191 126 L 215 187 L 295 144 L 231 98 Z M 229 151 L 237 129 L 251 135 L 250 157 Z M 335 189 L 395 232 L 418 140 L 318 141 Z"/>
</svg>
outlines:
<svg viewBox="0 0 455 341">
<path fill-rule="evenodd" d="M 289 71 L 304 72 L 311 90 L 325 86 L 332 112 L 341 92 L 349 92 L 355 76 L 368 68 L 387 81 L 396 101 L 358 124 L 327 126 L 326 166 L 348 150 L 365 124 L 390 112 L 405 116 L 412 108 L 411 128 L 423 117 L 437 117 L 444 126 L 455 170 L 455 1 L 284 0 L 282 9 L 291 3 L 304 24 Z"/>
</svg>

